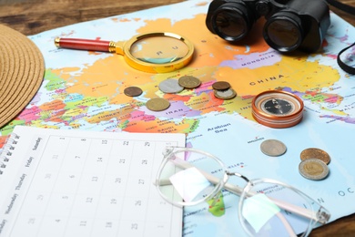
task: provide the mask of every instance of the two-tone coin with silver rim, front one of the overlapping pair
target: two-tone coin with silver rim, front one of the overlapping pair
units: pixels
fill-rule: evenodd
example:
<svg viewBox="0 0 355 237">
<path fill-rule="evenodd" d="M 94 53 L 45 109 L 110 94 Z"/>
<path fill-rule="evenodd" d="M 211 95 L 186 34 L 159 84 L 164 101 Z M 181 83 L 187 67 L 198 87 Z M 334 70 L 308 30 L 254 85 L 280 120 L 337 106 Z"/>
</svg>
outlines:
<svg viewBox="0 0 355 237">
<path fill-rule="evenodd" d="M 329 172 L 326 163 L 316 158 L 309 158 L 299 163 L 299 173 L 309 180 L 323 180 Z"/>
</svg>

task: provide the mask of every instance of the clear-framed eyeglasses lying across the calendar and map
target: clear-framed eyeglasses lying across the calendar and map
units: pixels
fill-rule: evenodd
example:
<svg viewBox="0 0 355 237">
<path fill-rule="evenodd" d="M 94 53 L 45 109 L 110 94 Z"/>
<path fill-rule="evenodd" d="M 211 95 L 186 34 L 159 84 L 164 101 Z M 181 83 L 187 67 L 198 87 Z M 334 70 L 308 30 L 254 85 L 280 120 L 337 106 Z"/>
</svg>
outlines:
<svg viewBox="0 0 355 237">
<path fill-rule="evenodd" d="M 245 180 L 244 188 L 228 183 L 230 176 Z M 198 149 L 167 148 L 156 186 L 166 201 L 180 207 L 216 206 L 222 189 L 237 194 L 238 219 L 250 236 L 308 236 L 317 223 L 330 219 L 330 212 L 302 191 L 278 180 L 249 180 Z"/>
</svg>

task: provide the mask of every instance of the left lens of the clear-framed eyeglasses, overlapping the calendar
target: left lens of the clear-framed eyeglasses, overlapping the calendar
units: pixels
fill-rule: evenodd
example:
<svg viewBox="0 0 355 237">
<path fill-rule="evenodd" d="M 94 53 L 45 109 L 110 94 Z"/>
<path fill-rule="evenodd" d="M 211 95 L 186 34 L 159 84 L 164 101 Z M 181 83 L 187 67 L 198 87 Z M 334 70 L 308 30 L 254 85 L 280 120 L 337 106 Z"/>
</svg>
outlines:
<svg viewBox="0 0 355 237">
<path fill-rule="evenodd" d="M 206 154 L 180 151 L 170 157 L 157 177 L 158 191 L 164 199 L 179 205 L 208 201 L 219 191 L 223 170 Z"/>
</svg>

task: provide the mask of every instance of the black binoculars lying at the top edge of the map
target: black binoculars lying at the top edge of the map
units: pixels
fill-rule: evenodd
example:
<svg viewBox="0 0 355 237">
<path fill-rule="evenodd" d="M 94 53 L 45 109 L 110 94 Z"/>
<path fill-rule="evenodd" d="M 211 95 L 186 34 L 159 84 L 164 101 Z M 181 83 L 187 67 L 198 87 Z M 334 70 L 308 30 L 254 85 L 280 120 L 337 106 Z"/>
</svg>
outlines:
<svg viewBox="0 0 355 237">
<path fill-rule="evenodd" d="M 214 0 L 206 26 L 221 38 L 238 42 L 261 15 L 265 41 L 280 52 L 320 49 L 330 26 L 330 9 L 323 0 Z"/>
</svg>

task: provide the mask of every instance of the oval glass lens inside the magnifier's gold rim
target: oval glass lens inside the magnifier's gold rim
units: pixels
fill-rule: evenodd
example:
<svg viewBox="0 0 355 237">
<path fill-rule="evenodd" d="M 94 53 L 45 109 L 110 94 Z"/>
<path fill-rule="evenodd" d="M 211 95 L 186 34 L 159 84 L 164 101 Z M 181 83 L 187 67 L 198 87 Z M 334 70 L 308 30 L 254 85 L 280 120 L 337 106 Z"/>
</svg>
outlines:
<svg viewBox="0 0 355 237">
<path fill-rule="evenodd" d="M 183 40 L 169 36 L 147 36 L 137 40 L 130 53 L 138 60 L 151 64 L 167 64 L 188 55 Z"/>
</svg>

